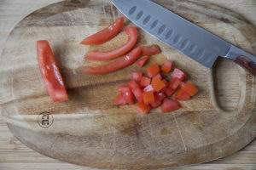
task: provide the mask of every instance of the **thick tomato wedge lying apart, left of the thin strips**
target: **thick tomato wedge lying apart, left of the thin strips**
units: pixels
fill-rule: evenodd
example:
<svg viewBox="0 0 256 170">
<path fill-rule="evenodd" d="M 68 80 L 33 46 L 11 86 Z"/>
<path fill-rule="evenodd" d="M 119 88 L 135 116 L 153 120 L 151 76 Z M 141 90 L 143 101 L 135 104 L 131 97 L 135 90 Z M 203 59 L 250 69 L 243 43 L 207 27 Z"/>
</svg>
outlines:
<svg viewBox="0 0 256 170">
<path fill-rule="evenodd" d="M 41 75 L 50 98 L 54 102 L 67 100 L 67 90 L 49 42 L 47 40 L 38 41 L 37 48 Z"/>
</svg>

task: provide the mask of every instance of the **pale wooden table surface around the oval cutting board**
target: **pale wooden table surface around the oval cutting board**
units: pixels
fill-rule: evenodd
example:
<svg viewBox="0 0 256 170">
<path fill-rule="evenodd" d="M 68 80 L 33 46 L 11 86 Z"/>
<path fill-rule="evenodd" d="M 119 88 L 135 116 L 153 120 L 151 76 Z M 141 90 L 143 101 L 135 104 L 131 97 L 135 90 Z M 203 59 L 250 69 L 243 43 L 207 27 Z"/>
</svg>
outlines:
<svg viewBox="0 0 256 170">
<path fill-rule="evenodd" d="M 9 32 L 22 20 L 26 14 L 35 9 L 44 7 L 50 3 L 60 0 L 0 0 L 0 54 L 3 50 L 4 42 Z M 256 26 L 256 1 L 255 0 L 207 0 L 218 3 L 225 8 L 235 10 L 242 14 Z M 37 152 L 27 148 L 15 139 L 9 132 L 6 123 L 0 116 L 0 169 L 92 169 L 90 167 L 80 167 L 52 158 L 42 156 Z M 217 161 L 210 161 L 201 165 L 178 167 L 174 169 L 255 169 L 256 168 L 256 140 L 247 145 L 244 149 L 231 156 L 224 157 Z"/>
</svg>

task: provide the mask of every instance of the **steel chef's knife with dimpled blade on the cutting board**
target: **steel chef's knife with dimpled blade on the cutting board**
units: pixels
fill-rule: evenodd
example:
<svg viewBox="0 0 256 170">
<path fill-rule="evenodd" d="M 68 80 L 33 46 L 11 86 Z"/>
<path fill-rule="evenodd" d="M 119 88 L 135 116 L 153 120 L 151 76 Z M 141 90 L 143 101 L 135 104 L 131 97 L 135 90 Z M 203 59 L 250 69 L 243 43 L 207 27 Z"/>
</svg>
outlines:
<svg viewBox="0 0 256 170">
<path fill-rule="evenodd" d="M 232 59 L 256 76 L 256 57 L 150 0 L 111 0 L 144 31 L 212 68 L 218 56 Z"/>
</svg>

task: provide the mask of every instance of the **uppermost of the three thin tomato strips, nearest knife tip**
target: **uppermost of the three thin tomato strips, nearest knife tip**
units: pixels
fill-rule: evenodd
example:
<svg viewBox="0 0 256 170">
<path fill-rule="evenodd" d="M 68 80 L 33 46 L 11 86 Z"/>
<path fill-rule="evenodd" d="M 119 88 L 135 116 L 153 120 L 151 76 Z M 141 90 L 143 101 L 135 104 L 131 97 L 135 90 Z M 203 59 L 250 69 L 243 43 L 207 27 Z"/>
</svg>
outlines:
<svg viewBox="0 0 256 170">
<path fill-rule="evenodd" d="M 110 26 L 103 29 L 102 31 L 98 31 L 96 34 L 84 38 L 84 40 L 80 42 L 80 44 L 96 45 L 101 44 L 103 42 L 108 42 L 108 40 L 112 39 L 119 33 L 119 31 L 122 29 L 124 25 L 124 22 L 124 17 L 118 18 Z"/>
</svg>

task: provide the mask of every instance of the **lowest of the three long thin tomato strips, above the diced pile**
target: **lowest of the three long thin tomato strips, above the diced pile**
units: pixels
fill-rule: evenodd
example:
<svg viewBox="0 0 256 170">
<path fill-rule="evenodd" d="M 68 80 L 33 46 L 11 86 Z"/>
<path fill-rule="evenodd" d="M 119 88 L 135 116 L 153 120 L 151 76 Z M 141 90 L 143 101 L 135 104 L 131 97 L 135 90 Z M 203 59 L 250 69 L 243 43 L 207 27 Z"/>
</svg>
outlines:
<svg viewBox="0 0 256 170">
<path fill-rule="evenodd" d="M 113 71 L 119 71 L 136 61 L 142 52 L 142 47 L 134 48 L 129 54 L 126 54 L 120 59 L 116 59 L 107 65 L 100 65 L 97 67 L 85 67 L 84 72 L 88 74 L 107 74 Z"/>
</svg>

